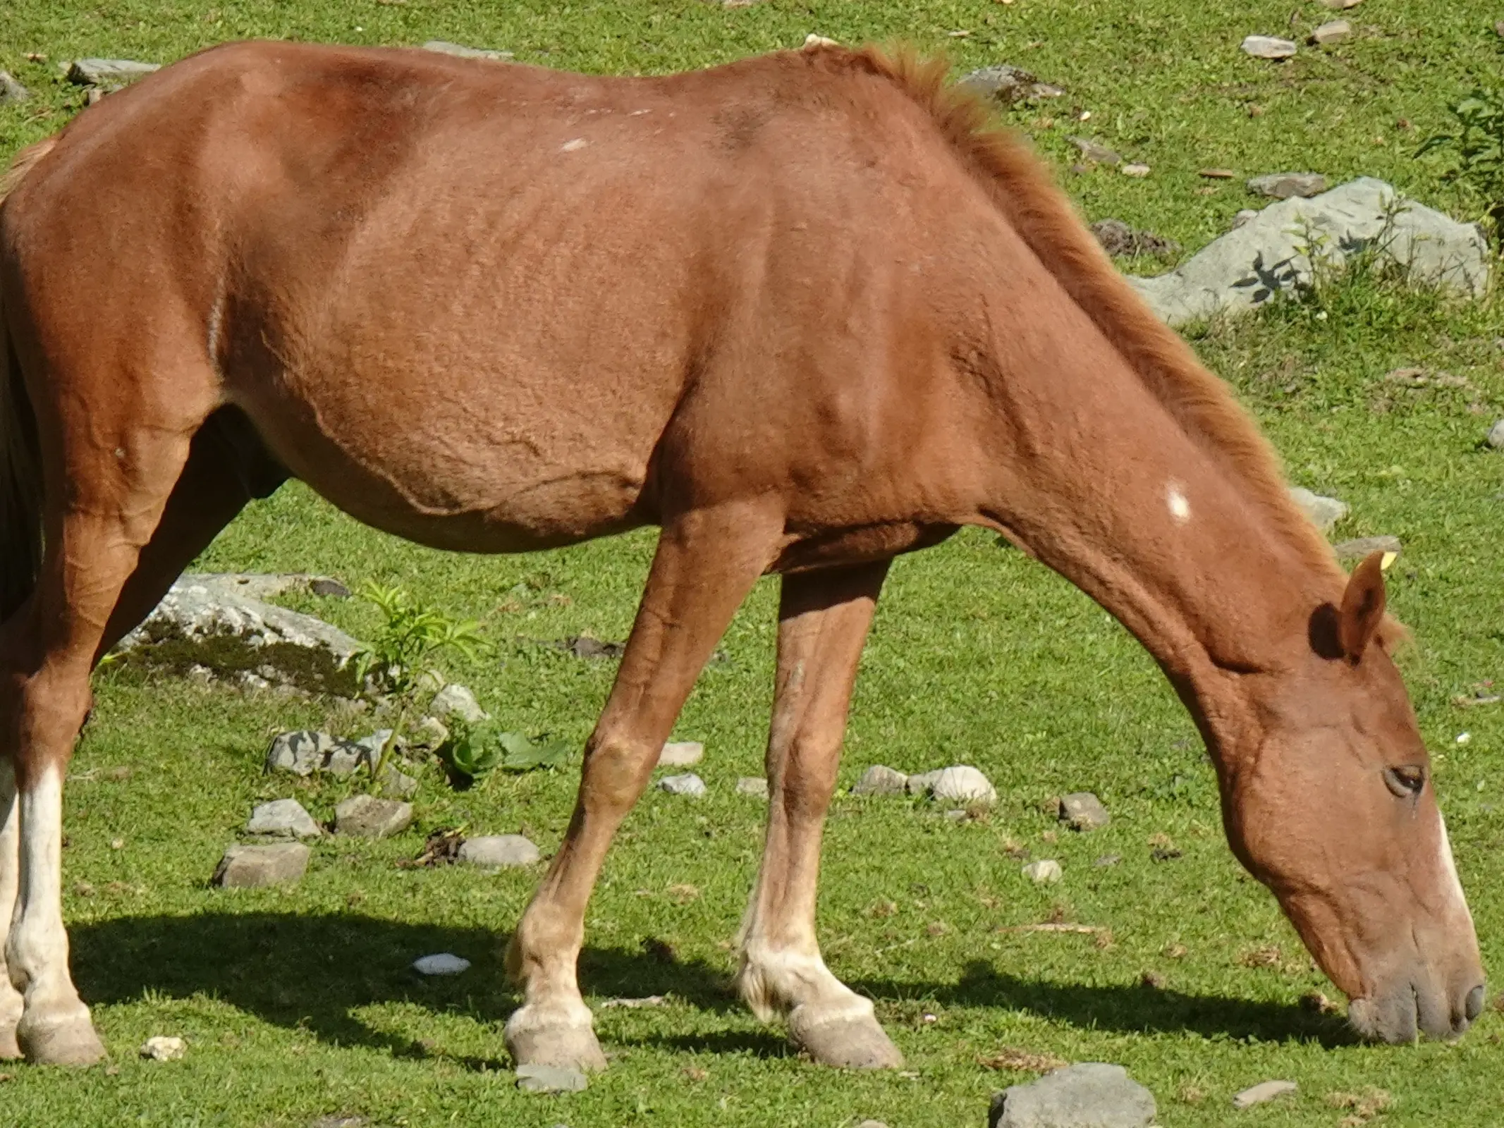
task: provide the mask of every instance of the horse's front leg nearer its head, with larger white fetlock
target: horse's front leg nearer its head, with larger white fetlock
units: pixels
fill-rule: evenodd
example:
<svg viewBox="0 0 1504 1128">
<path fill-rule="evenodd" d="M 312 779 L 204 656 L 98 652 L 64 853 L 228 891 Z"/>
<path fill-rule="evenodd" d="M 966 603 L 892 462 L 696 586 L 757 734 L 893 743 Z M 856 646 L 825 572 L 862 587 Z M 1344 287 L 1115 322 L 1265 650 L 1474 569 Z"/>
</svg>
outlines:
<svg viewBox="0 0 1504 1128">
<path fill-rule="evenodd" d="M 782 1015 L 817 1062 L 904 1063 L 872 1003 L 836 979 L 815 940 L 820 836 L 836 784 L 847 707 L 889 561 L 784 578 L 778 689 L 767 744 L 767 842 L 741 925 L 741 997 Z"/>
</svg>

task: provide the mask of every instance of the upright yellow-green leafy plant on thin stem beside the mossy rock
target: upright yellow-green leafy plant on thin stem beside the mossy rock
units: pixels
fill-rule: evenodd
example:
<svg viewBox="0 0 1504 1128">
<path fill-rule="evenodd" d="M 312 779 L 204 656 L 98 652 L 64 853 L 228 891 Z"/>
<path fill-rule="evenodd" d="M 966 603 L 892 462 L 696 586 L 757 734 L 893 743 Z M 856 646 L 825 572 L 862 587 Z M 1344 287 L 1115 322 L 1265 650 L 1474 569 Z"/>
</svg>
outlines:
<svg viewBox="0 0 1504 1128">
<path fill-rule="evenodd" d="M 429 672 L 433 657 L 445 650 L 474 657 L 484 648 L 486 641 L 477 633 L 475 623 L 451 618 L 423 605 L 402 588 L 385 588 L 367 581 L 359 596 L 374 603 L 385 621 L 370 645 L 352 657 L 355 678 L 358 684 L 390 696 L 397 707 L 391 735 L 382 744 L 371 769 L 371 785 L 378 787 L 391 750 L 397 746 L 397 738 L 414 711 L 423 675 Z"/>
</svg>

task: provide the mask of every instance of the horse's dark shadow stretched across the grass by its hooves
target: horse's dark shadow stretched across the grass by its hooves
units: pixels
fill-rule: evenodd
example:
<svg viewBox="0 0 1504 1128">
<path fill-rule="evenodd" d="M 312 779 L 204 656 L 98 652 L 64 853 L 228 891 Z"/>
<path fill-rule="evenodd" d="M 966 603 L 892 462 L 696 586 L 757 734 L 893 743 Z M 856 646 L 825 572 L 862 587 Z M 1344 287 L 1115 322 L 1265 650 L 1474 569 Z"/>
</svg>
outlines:
<svg viewBox="0 0 1504 1128">
<path fill-rule="evenodd" d="M 373 1027 L 362 1020 L 362 1008 L 412 1003 L 499 1027 L 517 1005 L 502 973 L 504 937 L 486 928 L 402 923 L 355 911 L 259 911 L 117 917 L 75 925 L 71 935 L 74 973 L 87 1002 L 211 997 L 275 1026 L 307 1030 L 323 1042 L 385 1048 L 397 1057 L 451 1056 L 429 1041 Z M 462 955 L 474 967 L 459 976 L 420 976 L 412 961 L 432 952 Z M 741 1011 L 726 969 L 665 958 L 654 945 L 587 948 L 581 982 L 594 996 L 672 994 L 708 1012 Z M 1322 1045 L 1352 1041 L 1336 1018 L 1295 1006 L 1139 985 L 1027 979 L 997 972 L 985 961 L 970 963 L 958 982 L 869 979 L 851 987 L 877 1000 L 880 1017 L 901 1009 L 904 1000 L 932 1000 L 940 1006 L 1024 1012 L 1081 1029 Z M 737 1050 L 767 1057 L 788 1053 L 773 1030 L 645 1035 L 639 1041 L 681 1051 Z M 475 1069 L 505 1068 L 499 1029 L 496 1051 L 493 1059 L 453 1060 Z"/>
</svg>

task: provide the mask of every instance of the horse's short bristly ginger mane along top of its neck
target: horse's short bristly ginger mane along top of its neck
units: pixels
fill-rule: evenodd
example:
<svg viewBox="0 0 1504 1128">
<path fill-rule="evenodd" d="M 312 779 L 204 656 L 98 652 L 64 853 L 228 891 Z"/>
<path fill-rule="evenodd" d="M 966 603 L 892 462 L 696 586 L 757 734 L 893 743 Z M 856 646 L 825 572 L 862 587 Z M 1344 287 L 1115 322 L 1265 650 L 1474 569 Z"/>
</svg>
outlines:
<svg viewBox="0 0 1504 1128">
<path fill-rule="evenodd" d="M 920 59 L 911 50 L 877 47 L 812 47 L 806 53 L 820 66 L 887 78 L 928 111 L 1014 230 L 1185 433 L 1244 483 L 1269 523 L 1318 575 L 1345 582 L 1327 538 L 1290 499 L 1274 448 L 1227 385 L 1123 281 L 1027 146 L 988 125 L 981 98 L 946 84 L 945 57 Z"/>
</svg>

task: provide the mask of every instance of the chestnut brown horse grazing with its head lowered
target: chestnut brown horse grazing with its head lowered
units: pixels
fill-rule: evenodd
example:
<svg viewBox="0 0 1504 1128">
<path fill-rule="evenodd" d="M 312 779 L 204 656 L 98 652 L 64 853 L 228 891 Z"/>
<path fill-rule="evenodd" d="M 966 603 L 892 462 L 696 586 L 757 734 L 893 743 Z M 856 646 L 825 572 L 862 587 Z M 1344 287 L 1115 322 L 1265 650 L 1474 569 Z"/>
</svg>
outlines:
<svg viewBox="0 0 1504 1128">
<path fill-rule="evenodd" d="M 1233 851 L 1360 1032 L 1477 1017 L 1378 559 L 1340 572 L 1226 388 L 943 69 L 818 45 L 593 78 L 242 44 L 20 158 L 0 211 L 0 1053 L 102 1053 L 59 899 L 89 674 L 289 474 L 450 549 L 662 528 L 511 942 L 519 1062 L 603 1065 L 575 979 L 587 898 L 770 570 L 772 799 L 741 993 L 821 1062 L 901 1060 L 820 957 L 820 836 L 889 561 L 961 525 L 1060 572 L 1158 659 Z"/>
</svg>

